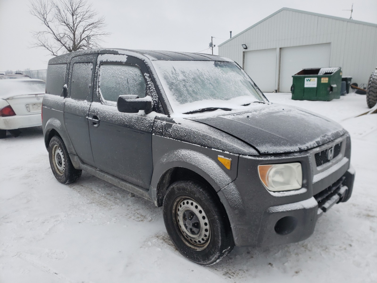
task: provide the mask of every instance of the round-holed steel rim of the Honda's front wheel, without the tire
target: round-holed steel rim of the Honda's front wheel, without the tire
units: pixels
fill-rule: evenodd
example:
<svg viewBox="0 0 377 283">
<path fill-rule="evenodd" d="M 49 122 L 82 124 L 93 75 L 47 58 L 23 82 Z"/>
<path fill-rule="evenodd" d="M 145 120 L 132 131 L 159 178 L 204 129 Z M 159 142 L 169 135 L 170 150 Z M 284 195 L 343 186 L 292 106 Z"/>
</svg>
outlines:
<svg viewBox="0 0 377 283">
<path fill-rule="evenodd" d="M 175 200 L 173 209 L 185 245 L 197 251 L 207 248 L 211 240 L 211 228 L 202 206 L 192 198 L 183 196 Z"/>
</svg>

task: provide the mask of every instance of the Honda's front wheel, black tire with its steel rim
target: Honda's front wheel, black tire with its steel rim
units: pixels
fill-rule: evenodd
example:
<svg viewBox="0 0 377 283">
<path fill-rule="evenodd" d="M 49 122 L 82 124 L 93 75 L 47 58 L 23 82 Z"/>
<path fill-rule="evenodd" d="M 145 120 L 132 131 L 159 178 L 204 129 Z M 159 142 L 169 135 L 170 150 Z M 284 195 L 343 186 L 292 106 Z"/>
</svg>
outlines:
<svg viewBox="0 0 377 283">
<path fill-rule="evenodd" d="M 190 179 L 176 181 L 167 189 L 162 208 L 170 239 L 189 260 L 200 265 L 213 265 L 234 248 L 225 209 L 218 196 L 206 185 Z M 197 234 L 190 237 L 190 233 L 195 232 Z"/>
</svg>

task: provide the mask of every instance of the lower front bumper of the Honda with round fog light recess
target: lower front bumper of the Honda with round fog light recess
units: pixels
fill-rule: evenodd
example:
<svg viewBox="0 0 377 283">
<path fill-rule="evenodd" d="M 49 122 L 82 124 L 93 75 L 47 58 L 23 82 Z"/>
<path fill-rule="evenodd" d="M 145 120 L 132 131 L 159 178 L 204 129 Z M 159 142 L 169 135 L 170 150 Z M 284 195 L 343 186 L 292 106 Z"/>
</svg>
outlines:
<svg viewBox="0 0 377 283">
<path fill-rule="evenodd" d="M 250 224 L 234 223 L 234 218 L 241 222 L 241 215 L 246 214 L 242 211 L 242 205 L 238 204 L 239 209 L 234 210 L 234 215 L 230 217 L 233 218 L 231 227 L 236 246 L 266 247 L 307 239 L 313 234 L 317 219 L 321 215 L 334 204 L 347 201 L 351 197 L 354 178 L 355 171 L 350 167 L 339 180 L 319 194 L 294 203 L 270 206 L 262 212 L 260 218 L 248 221 Z M 220 191 L 219 197 L 224 203 L 228 195 Z M 228 211 L 229 202 L 224 205 Z M 254 212 L 258 214 L 257 208 Z"/>
</svg>

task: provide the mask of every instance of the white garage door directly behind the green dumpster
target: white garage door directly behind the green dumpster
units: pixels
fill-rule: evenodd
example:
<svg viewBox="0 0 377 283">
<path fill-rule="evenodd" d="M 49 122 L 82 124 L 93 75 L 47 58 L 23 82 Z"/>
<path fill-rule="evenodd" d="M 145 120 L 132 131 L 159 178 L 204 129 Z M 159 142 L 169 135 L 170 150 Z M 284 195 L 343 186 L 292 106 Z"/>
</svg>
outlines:
<svg viewBox="0 0 377 283">
<path fill-rule="evenodd" d="M 280 55 L 280 92 L 290 92 L 292 75 L 304 68 L 329 67 L 330 43 L 282 48 Z"/>
</svg>

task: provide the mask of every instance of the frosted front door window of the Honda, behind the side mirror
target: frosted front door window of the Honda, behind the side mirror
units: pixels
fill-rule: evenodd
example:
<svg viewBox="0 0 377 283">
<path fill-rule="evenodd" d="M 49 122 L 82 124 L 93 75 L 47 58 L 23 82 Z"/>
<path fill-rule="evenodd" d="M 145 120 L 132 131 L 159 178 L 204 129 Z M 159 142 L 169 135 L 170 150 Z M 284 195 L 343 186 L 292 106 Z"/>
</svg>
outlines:
<svg viewBox="0 0 377 283">
<path fill-rule="evenodd" d="M 100 66 L 99 89 L 105 101 L 116 102 L 119 95 L 146 95 L 146 83 L 140 69 L 130 65 Z"/>
</svg>

